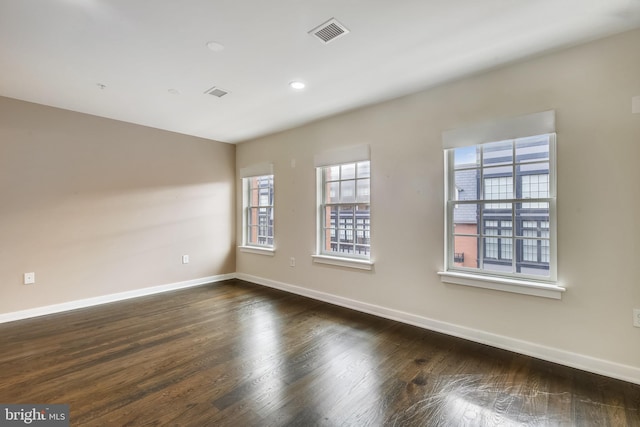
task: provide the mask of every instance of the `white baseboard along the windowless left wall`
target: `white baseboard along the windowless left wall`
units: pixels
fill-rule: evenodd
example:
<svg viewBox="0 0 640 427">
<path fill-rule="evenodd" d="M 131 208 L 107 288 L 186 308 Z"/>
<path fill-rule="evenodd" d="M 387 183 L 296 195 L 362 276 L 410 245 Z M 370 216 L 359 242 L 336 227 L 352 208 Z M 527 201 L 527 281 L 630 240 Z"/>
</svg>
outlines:
<svg viewBox="0 0 640 427">
<path fill-rule="evenodd" d="M 200 279 L 186 280 L 184 282 L 169 283 L 166 285 L 153 286 L 150 288 L 136 289 L 133 291 L 119 292 L 117 294 L 103 295 L 100 297 L 81 299 L 64 302 L 61 304 L 47 305 L 44 307 L 30 308 L 28 310 L 14 311 L 0 314 L 0 323 L 13 322 L 15 320 L 28 319 L 31 317 L 45 316 L 47 314 L 60 313 L 63 311 L 76 310 L 94 305 L 107 304 L 115 301 L 122 301 L 146 295 L 159 294 L 162 292 L 175 291 L 177 289 L 191 288 L 207 283 L 220 282 L 235 278 L 235 273 L 219 274 L 217 276 L 202 277 Z"/>
</svg>

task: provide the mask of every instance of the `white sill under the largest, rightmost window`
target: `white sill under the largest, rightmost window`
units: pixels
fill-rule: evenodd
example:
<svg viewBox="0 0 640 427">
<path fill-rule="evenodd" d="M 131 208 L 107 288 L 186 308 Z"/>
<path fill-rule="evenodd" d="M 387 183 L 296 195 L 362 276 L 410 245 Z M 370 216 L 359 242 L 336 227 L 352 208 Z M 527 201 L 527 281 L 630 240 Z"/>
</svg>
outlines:
<svg viewBox="0 0 640 427">
<path fill-rule="evenodd" d="M 562 297 L 562 293 L 566 291 L 566 289 L 561 286 L 529 280 L 482 276 L 479 274 L 458 273 L 452 271 L 439 271 L 438 274 L 440 275 L 440 280 L 443 283 L 475 286 L 477 288 L 533 295 L 543 298 L 560 299 Z"/>
</svg>

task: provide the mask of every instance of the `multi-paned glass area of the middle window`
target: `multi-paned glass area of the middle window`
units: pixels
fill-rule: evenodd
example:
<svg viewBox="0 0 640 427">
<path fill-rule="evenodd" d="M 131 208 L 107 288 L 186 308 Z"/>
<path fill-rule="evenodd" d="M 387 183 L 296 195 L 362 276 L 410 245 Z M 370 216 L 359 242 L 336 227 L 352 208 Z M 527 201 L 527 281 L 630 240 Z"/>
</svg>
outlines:
<svg viewBox="0 0 640 427">
<path fill-rule="evenodd" d="M 368 259 L 371 253 L 369 161 L 318 168 L 320 254 Z"/>
</svg>

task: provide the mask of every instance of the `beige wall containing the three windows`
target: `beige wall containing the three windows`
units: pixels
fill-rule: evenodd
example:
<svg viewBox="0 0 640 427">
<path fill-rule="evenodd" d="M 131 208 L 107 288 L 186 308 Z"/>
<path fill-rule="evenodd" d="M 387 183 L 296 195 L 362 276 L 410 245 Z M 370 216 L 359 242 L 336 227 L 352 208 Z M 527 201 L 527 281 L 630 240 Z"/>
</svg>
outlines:
<svg viewBox="0 0 640 427">
<path fill-rule="evenodd" d="M 640 31 L 629 32 L 238 145 L 238 168 L 274 163 L 276 255 L 238 253 L 237 271 L 640 368 L 632 326 L 640 308 L 640 115 L 631 114 L 638 46 Z M 557 112 L 558 271 L 567 292 L 551 300 L 441 283 L 442 131 L 549 109 Z M 374 271 L 313 264 L 313 157 L 364 143 Z"/>
</svg>

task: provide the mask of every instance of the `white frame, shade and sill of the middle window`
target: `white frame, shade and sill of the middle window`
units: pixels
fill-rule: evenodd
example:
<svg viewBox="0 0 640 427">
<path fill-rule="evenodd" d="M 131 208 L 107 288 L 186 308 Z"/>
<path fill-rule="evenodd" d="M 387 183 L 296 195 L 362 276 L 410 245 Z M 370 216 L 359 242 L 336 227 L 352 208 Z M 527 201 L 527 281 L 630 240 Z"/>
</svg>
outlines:
<svg viewBox="0 0 640 427">
<path fill-rule="evenodd" d="M 368 202 L 358 202 L 357 199 L 354 199 L 353 202 L 338 202 L 338 203 L 325 203 L 325 191 L 326 191 L 326 183 L 324 182 L 324 174 L 323 170 L 326 167 L 336 167 L 343 166 L 347 164 L 355 164 L 356 165 L 356 174 L 357 174 L 357 164 L 362 162 L 369 163 L 369 177 L 366 178 L 369 180 L 369 201 Z M 369 146 L 361 145 L 354 147 L 346 147 L 338 150 L 328 151 L 324 153 L 320 153 L 315 156 L 314 164 L 316 167 L 316 251 L 315 254 L 312 255 L 313 262 L 317 264 L 328 264 L 339 267 L 347 267 L 354 268 L 359 270 L 372 270 L 373 269 L 373 258 L 372 258 L 372 241 L 371 241 L 371 228 L 372 228 L 372 215 L 371 215 L 371 179 L 372 179 L 372 170 L 371 170 L 371 161 L 369 156 Z M 357 175 L 354 179 L 354 194 L 357 197 Z M 341 181 L 340 181 L 341 182 Z M 340 205 L 353 205 L 354 207 L 358 204 L 367 204 L 369 205 L 369 254 L 368 255 L 359 255 L 357 253 L 340 253 L 340 252 L 329 252 L 324 250 L 324 223 L 325 223 L 325 208 L 329 205 L 331 206 L 340 206 Z M 353 228 L 353 236 L 354 238 L 359 235 L 359 230 L 357 227 L 357 219 L 354 220 L 354 228 Z M 339 233 L 339 230 L 337 231 Z"/>
</svg>

